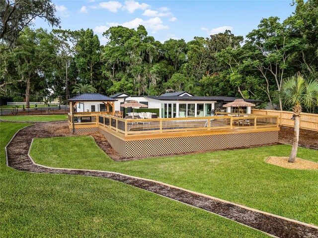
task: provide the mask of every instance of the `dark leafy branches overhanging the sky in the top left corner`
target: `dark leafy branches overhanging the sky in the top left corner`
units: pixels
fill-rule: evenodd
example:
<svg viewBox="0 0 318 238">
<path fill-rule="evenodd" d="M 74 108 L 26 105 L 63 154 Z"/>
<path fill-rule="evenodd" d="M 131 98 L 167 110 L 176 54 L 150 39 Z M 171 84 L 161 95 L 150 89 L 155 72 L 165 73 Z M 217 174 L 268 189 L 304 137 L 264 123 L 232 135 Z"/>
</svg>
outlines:
<svg viewBox="0 0 318 238">
<path fill-rule="evenodd" d="M 51 0 L 0 0 L 0 40 L 13 44 L 24 27 L 40 17 L 52 26 L 60 24 Z"/>
</svg>

